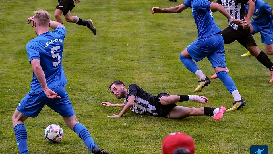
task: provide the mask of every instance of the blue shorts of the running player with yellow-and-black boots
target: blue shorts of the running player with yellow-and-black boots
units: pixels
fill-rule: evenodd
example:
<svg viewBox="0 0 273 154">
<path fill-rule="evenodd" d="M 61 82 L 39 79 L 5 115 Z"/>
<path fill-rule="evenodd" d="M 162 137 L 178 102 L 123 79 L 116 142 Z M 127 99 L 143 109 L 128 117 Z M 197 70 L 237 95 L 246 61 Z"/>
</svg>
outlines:
<svg viewBox="0 0 273 154">
<path fill-rule="evenodd" d="M 198 39 L 187 47 L 188 53 L 196 62 L 208 57 L 212 68 L 226 67 L 224 40 L 221 34 Z"/>
</svg>

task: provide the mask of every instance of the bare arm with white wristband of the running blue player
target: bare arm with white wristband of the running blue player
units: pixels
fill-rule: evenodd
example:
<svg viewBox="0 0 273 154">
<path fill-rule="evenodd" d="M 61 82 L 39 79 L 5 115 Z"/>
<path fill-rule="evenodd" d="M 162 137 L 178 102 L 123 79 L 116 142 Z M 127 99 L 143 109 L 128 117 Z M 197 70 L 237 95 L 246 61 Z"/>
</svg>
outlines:
<svg viewBox="0 0 273 154">
<path fill-rule="evenodd" d="M 239 26 L 247 26 L 246 21 L 244 21 L 244 19 L 242 20 L 238 20 L 238 19 L 233 19 L 232 16 L 228 13 L 228 11 L 226 9 L 224 9 L 224 7 L 221 4 L 218 3 L 211 3 L 210 4 L 210 9 L 211 10 L 217 10 L 220 13 L 222 13 L 226 18 L 228 18 L 228 20 L 231 23 L 235 23 L 236 25 Z"/>
</svg>

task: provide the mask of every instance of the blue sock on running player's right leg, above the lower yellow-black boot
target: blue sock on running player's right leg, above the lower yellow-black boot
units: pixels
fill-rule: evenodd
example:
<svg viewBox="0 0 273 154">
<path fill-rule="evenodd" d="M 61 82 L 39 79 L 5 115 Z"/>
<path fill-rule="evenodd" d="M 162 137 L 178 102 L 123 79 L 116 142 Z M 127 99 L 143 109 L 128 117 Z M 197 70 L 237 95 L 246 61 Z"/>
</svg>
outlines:
<svg viewBox="0 0 273 154">
<path fill-rule="evenodd" d="M 224 83 L 230 93 L 237 89 L 234 81 L 228 75 L 227 71 L 217 72 L 216 75 Z"/>
</svg>

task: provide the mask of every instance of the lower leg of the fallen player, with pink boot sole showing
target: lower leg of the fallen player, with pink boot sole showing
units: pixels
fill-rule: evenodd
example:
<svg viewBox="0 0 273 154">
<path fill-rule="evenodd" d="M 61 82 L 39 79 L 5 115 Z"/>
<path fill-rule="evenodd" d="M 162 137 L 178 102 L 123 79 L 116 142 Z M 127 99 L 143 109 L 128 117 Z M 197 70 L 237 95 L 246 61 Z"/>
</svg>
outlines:
<svg viewBox="0 0 273 154">
<path fill-rule="evenodd" d="M 201 107 L 201 108 L 188 108 L 183 106 L 174 107 L 166 117 L 181 119 L 189 116 L 214 116 L 214 120 L 220 120 L 223 117 L 224 112 L 226 111 L 225 106 L 220 108 L 210 108 L 210 107 Z"/>
</svg>

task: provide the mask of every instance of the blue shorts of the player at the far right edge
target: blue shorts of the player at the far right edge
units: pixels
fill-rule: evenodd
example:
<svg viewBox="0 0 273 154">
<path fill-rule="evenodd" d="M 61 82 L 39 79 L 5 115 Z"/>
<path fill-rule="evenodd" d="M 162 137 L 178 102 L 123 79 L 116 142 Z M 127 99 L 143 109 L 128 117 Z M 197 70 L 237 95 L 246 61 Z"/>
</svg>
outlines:
<svg viewBox="0 0 273 154">
<path fill-rule="evenodd" d="M 268 29 L 260 26 L 257 22 L 251 21 L 250 24 L 253 26 L 254 33 L 252 35 L 260 32 L 262 43 L 264 44 L 273 44 L 273 26 L 270 26 Z"/>
</svg>

